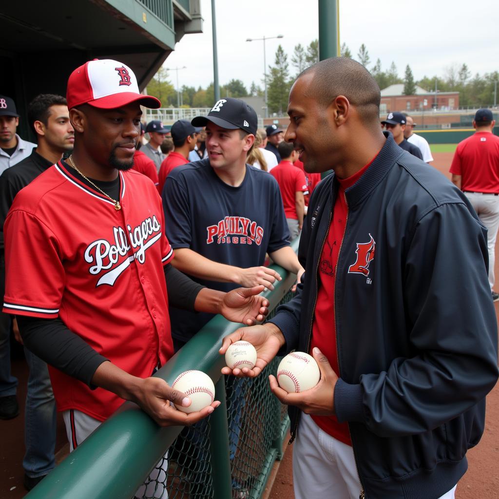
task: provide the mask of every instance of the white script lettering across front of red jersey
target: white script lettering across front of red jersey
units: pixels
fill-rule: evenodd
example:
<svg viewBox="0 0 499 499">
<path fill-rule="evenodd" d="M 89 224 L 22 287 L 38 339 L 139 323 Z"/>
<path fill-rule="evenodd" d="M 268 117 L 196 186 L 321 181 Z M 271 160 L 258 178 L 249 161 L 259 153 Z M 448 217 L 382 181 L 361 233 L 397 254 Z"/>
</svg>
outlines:
<svg viewBox="0 0 499 499">
<path fill-rule="evenodd" d="M 146 250 L 159 241 L 161 235 L 161 224 L 156 216 L 153 216 L 145 219 L 133 229 L 127 225 L 127 232 L 123 227 L 113 227 L 114 241 L 112 243 L 105 239 L 91 243 L 85 250 L 85 261 L 94 263 L 89 268 L 89 272 L 97 275 L 107 270 L 103 272 L 96 286 L 114 285 L 116 279 L 134 259 L 137 259 L 139 263 L 144 263 Z M 130 250 L 133 250 L 133 254 L 127 256 Z M 126 259 L 118 263 L 125 256 L 127 256 Z"/>
</svg>

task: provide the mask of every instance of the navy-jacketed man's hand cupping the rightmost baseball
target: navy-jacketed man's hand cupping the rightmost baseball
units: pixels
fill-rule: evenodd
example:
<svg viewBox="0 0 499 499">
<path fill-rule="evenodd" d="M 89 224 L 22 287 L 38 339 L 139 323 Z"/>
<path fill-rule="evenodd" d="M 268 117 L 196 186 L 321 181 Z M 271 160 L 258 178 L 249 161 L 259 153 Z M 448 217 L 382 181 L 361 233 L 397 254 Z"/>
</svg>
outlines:
<svg viewBox="0 0 499 499">
<path fill-rule="evenodd" d="M 334 414 L 334 387 L 338 376 L 327 357 L 317 347 L 312 350 L 312 356 L 320 370 L 320 380 L 316 386 L 304 392 L 288 393 L 278 385 L 274 376 L 269 376 L 270 390 L 281 404 L 296 406 L 305 414 L 331 416 Z"/>
</svg>

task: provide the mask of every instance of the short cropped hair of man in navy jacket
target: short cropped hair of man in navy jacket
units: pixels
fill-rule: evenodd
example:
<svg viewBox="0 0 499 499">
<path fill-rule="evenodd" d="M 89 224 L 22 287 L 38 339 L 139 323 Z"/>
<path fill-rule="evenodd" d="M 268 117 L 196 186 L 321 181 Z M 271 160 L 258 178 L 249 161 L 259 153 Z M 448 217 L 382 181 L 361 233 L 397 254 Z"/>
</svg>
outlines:
<svg viewBox="0 0 499 499">
<path fill-rule="evenodd" d="M 313 74 L 309 96 L 319 104 L 327 107 L 338 95 L 344 95 L 366 124 L 379 127 L 381 91 L 362 64 L 346 57 L 331 57 L 308 67 L 298 78 L 306 74 Z"/>
</svg>

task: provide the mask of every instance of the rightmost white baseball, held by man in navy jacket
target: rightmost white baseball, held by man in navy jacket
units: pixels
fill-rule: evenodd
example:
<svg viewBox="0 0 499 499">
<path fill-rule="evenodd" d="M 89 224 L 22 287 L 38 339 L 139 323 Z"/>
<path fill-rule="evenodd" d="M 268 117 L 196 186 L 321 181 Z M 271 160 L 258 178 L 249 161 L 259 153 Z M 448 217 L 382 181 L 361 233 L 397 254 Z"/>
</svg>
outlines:
<svg viewBox="0 0 499 499">
<path fill-rule="evenodd" d="M 277 383 L 288 393 L 309 390 L 319 379 L 319 366 L 308 353 L 292 352 L 281 360 L 277 368 Z"/>
</svg>

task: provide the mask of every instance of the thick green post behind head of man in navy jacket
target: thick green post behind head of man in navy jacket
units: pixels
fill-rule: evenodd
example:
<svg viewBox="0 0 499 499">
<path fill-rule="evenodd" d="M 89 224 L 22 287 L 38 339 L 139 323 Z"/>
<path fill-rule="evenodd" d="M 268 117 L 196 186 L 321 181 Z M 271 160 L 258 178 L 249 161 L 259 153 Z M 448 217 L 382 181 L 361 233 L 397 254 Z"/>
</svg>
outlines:
<svg viewBox="0 0 499 499">
<path fill-rule="evenodd" d="M 339 0 L 319 0 L 319 60 L 340 55 Z M 323 179 L 332 173 L 320 174 Z"/>
</svg>

